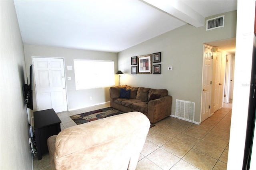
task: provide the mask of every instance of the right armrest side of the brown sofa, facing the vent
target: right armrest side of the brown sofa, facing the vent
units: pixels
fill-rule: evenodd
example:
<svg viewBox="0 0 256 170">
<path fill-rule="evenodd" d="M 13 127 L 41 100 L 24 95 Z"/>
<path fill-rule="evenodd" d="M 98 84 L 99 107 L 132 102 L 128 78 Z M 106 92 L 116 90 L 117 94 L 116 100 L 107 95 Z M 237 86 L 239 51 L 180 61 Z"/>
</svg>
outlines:
<svg viewBox="0 0 256 170">
<path fill-rule="evenodd" d="M 156 123 L 172 114 L 172 96 L 164 96 L 148 102 L 148 119 Z"/>
</svg>

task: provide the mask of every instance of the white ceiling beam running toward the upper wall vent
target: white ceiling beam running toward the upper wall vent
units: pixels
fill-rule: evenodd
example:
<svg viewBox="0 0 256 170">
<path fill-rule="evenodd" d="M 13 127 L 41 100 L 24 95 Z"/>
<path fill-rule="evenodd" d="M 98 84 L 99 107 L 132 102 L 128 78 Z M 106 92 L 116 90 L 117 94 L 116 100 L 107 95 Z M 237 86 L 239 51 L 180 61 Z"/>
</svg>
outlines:
<svg viewBox="0 0 256 170">
<path fill-rule="evenodd" d="M 195 27 L 204 26 L 204 17 L 181 0 L 143 0 L 144 2 Z"/>
</svg>

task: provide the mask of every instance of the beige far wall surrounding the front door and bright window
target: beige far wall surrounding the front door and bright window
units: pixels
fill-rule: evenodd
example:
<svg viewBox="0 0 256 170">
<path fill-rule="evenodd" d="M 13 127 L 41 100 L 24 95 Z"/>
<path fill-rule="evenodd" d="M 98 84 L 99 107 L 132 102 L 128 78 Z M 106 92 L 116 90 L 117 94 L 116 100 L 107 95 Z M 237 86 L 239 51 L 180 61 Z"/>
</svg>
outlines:
<svg viewBox="0 0 256 170">
<path fill-rule="evenodd" d="M 73 59 L 98 59 L 98 60 L 112 60 L 115 64 L 115 71 L 117 71 L 117 54 L 111 52 L 90 51 L 81 49 L 57 48 L 40 45 L 24 45 L 25 60 L 27 74 L 29 75 L 29 67 L 32 64 L 32 56 L 34 57 L 60 57 L 64 58 L 65 76 L 66 76 L 66 90 L 68 100 L 68 110 L 81 109 L 99 103 L 109 101 L 109 87 L 98 89 L 76 90 L 74 77 L 74 61 Z M 68 71 L 67 66 L 72 65 L 73 70 Z M 90 71 L 90 70 L 88 70 Z M 67 77 L 71 77 L 68 80 Z M 116 76 L 116 85 L 118 83 Z M 91 80 L 88 80 L 91 81 Z M 33 91 L 33 108 L 36 111 L 36 93 Z M 92 100 L 90 100 L 92 97 Z"/>
</svg>

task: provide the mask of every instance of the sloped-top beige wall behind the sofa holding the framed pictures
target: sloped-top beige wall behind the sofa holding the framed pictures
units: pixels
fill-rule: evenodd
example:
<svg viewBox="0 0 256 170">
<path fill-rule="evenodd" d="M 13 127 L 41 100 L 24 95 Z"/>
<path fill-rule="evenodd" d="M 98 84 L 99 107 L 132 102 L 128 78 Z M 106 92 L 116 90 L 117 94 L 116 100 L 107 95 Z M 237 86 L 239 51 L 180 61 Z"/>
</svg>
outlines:
<svg viewBox="0 0 256 170">
<path fill-rule="evenodd" d="M 118 53 L 118 69 L 126 74 L 121 78 L 121 84 L 167 89 L 173 97 L 172 115 L 175 115 L 176 99 L 195 102 L 195 121 L 200 122 L 203 44 L 234 37 L 236 11 L 225 13 L 225 26 L 222 28 L 206 31 L 206 26 L 195 28 L 186 24 L 130 47 Z M 132 56 L 156 52 L 161 52 L 162 62 L 153 64 L 161 64 L 162 74 L 131 75 Z M 168 71 L 168 66 L 173 70 Z"/>
</svg>

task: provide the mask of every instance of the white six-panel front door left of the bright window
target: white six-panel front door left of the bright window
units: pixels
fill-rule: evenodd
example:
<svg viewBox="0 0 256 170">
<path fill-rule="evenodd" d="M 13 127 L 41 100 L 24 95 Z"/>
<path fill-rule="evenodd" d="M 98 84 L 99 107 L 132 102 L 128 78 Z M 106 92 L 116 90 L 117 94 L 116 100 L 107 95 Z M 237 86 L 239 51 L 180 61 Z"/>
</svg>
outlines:
<svg viewBox="0 0 256 170">
<path fill-rule="evenodd" d="M 33 67 L 38 111 L 67 111 L 64 60 L 33 57 Z"/>
</svg>

